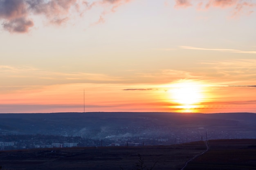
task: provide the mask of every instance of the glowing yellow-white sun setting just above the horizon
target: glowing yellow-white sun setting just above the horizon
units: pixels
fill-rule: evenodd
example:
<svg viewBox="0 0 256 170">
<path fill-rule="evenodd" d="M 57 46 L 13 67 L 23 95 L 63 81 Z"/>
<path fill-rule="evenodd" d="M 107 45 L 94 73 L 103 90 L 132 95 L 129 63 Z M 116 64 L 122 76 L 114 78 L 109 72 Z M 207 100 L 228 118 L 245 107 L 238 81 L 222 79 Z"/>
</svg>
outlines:
<svg viewBox="0 0 256 170">
<path fill-rule="evenodd" d="M 191 112 L 204 100 L 202 85 L 192 81 L 183 81 L 171 85 L 171 102 L 176 103 L 177 109 Z"/>
</svg>

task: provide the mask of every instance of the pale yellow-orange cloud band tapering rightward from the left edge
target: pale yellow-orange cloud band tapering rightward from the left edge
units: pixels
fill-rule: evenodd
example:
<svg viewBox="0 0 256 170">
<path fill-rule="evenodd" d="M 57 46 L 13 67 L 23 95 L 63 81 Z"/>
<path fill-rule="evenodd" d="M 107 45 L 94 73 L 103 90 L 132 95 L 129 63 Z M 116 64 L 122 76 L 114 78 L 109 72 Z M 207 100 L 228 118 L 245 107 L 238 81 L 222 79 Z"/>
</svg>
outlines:
<svg viewBox="0 0 256 170">
<path fill-rule="evenodd" d="M 121 83 L 125 78 L 90 72 L 55 72 L 26 66 L 0 65 L 1 86 L 49 85 L 66 83 Z M 21 81 L 22 80 L 22 81 Z M 21 87 L 20 86 L 20 87 Z"/>
</svg>

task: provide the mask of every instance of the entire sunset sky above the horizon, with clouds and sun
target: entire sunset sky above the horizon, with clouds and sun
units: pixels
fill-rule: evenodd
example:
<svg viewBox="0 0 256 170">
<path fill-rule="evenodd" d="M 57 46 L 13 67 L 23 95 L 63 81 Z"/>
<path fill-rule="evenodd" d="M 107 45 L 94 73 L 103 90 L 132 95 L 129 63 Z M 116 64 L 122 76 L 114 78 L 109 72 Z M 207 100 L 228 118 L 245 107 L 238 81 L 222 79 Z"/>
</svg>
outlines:
<svg viewBox="0 0 256 170">
<path fill-rule="evenodd" d="M 0 0 L 0 113 L 256 113 L 256 0 Z"/>
</svg>

